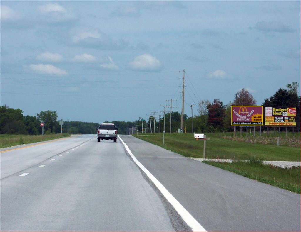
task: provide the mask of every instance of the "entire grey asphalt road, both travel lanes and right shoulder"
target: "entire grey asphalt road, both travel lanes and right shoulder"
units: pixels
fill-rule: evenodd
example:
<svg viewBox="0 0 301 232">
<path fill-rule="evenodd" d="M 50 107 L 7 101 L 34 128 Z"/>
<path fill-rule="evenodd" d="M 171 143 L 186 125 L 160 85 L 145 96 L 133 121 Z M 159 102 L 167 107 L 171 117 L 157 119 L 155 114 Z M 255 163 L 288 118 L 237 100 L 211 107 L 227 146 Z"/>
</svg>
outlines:
<svg viewBox="0 0 301 232">
<path fill-rule="evenodd" d="M 207 231 L 300 231 L 299 194 L 120 137 Z M 0 153 L 0 231 L 190 230 L 119 139 L 23 147 Z"/>
</svg>

